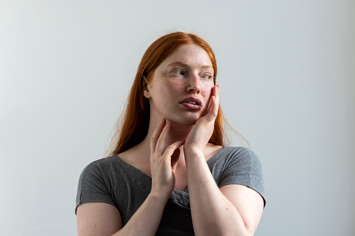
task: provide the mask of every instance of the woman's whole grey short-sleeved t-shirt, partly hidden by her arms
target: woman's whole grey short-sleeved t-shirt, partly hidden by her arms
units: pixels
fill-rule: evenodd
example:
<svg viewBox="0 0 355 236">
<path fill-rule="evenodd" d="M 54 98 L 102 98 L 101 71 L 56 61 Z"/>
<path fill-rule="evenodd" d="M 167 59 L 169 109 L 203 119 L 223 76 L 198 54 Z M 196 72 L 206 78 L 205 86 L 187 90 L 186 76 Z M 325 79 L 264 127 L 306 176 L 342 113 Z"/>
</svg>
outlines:
<svg viewBox="0 0 355 236">
<path fill-rule="evenodd" d="M 245 185 L 264 199 L 262 165 L 252 150 L 223 147 L 207 164 L 218 187 Z M 76 207 L 83 203 L 109 203 L 119 210 L 122 226 L 125 226 L 150 191 L 148 175 L 113 155 L 84 168 L 77 188 Z M 188 187 L 172 192 L 156 235 L 194 235 Z"/>
</svg>

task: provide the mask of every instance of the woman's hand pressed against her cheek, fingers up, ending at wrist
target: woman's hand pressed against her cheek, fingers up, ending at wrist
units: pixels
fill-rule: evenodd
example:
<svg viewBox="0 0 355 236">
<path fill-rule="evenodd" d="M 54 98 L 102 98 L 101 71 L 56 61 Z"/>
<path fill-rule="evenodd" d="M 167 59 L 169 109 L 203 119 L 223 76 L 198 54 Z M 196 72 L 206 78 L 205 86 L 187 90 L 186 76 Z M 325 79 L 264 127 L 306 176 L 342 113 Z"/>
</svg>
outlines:
<svg viewBox="0 0 355 236">
<path fill-rule="evenodd" d="M 220 86 L 213 86 L 209 108 L 204 116 L 199 118 L 192 127 L 183 145 L 183 151 L 203 152 L 213 134 L 214 124 L 218 113 Z"/>
</svg>

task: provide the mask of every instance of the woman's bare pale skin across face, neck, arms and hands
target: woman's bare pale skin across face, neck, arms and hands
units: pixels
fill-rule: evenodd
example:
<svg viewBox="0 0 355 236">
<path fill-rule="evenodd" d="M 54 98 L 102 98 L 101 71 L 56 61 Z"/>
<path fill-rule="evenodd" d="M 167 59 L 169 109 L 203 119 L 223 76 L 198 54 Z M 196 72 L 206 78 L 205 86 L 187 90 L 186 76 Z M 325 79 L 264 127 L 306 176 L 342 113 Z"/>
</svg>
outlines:
<svg viewBox="0 0 355 236">
<path fill-rule="evenodd" d="M 151 108 L 148 135 L 119 154 L 151 176 L 151 193 L 124 227 L 113 205 L 80 205 L 78 235 L 155 235 L 172 191 L 186 185 L 195 235 L 253 235 L 262 217 L 262 197 L 239 184 L 218 188 L 206 164 L 222 148 L 208 143 L 219 95 L 204 49 L 182 45 L 165 58 L 144 91 Z M 186 97 L 196 97 L 202 108 L 183 106 Z"/>
</svg>

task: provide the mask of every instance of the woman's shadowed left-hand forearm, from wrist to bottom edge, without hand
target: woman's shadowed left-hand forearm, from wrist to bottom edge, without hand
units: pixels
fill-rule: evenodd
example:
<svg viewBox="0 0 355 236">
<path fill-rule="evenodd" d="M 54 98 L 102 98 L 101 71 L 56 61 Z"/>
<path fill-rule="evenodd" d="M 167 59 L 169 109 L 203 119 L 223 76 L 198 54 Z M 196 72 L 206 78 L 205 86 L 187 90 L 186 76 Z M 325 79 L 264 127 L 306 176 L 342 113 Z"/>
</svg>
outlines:
<svg viewBox="0 0 355 236">
<path fill-rule="evenodd" d="M 126 226 L 112 236 L 156 235 L 166 203 L 166 196 L 149 194 L 137 212 L 126 223 Z"/>
</svg>

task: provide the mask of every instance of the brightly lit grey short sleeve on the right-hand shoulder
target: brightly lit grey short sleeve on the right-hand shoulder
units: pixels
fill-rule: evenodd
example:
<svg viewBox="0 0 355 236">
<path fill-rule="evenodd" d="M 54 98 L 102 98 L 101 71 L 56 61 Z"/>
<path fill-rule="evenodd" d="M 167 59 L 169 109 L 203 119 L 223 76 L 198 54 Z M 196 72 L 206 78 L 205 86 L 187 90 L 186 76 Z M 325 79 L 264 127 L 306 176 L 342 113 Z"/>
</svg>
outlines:
<svg viewBox="0 0 355 236">
<path fill-rule="evenodd" d="M 230 153 L 227 166 L 220 177 L 219 187 L 227 184 L 241 184 L 254 189 L 262 196 L 265 205 L 262 164 L 255 152 L 249 148 L 239 148 Z"/>
</svg>

